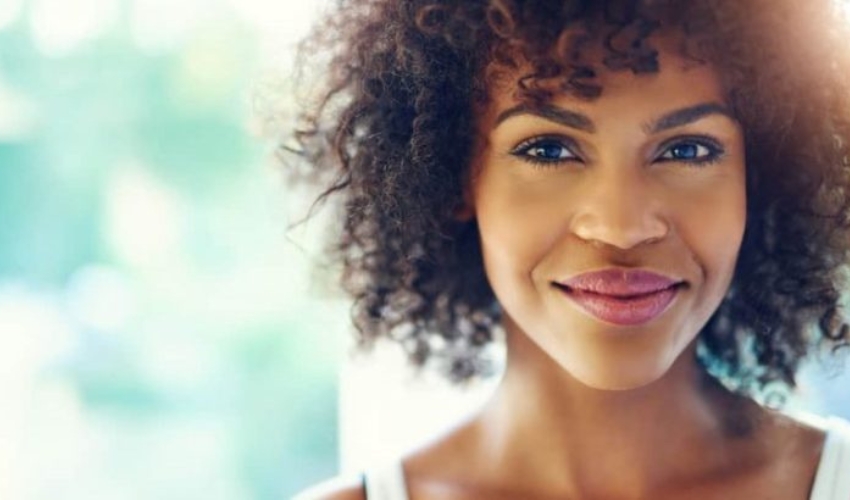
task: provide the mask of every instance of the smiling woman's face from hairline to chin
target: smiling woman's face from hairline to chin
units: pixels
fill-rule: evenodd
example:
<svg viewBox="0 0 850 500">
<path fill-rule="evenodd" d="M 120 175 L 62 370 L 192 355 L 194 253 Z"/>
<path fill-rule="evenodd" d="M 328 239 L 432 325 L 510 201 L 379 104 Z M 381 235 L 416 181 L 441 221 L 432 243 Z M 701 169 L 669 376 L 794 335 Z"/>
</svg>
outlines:
<svg viewBox="0 0 850 500">
<path fill-rule="evenodd" d="M 479 123 L 471 202 L 508 334 L 601 389 L 672 366 L 744 234 L 742 131 L 717 76 L 663 50 L 660 64 L 602 73 L 592 101 L 531 109 L 495 89 Z"/>
</svg>

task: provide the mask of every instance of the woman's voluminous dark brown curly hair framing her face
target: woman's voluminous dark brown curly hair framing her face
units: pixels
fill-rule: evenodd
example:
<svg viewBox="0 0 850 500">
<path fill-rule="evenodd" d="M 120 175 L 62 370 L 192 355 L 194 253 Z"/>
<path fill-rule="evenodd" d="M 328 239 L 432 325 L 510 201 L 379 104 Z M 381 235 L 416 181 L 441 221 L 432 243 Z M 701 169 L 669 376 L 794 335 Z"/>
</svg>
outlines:
<svg viewBox="0 0 850 500">
<path fill-rule="evenodd" d="M 476 116 L 494 82 L 518 98 L 595 99 L 601 66 L 659 70 L 650 35 L 710 64 L 742 124 L 747 224 L 732 285 L 699 336 L 733 389 L 795 386 L 801 361 L 848 344 L 850 20 L 840 0 L 338 0 L 302 45 L 329 55 L 296 152 L 339 197 L 331 251 L 359 345 L 391 338 L 454 381 L 487 373 L 500 308 L 474 220 L 457 216 Z M 587 57 L 601 40 L 601 61 Z M 596 59 L 599 59 L 598 57 Z"/>
</svg>

